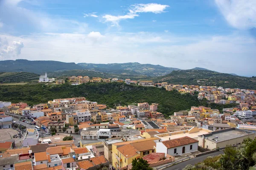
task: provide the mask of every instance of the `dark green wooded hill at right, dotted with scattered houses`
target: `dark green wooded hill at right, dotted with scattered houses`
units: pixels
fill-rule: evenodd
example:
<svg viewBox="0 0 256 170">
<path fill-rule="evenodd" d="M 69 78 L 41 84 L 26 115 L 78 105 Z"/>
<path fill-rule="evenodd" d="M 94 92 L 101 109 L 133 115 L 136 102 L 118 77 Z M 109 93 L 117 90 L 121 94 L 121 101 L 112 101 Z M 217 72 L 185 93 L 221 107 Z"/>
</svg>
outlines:
<svg viewBox="0 0 256 170">
<path fill-rule="evenodd" d="M 241 77 L 208 70 L 180 70 L 161 77 L 152 78 L 154 82 L 168 82 L 182 85 L 210 85 L 224 88 L 256 90 L 256 77 Z"/>
</svg>

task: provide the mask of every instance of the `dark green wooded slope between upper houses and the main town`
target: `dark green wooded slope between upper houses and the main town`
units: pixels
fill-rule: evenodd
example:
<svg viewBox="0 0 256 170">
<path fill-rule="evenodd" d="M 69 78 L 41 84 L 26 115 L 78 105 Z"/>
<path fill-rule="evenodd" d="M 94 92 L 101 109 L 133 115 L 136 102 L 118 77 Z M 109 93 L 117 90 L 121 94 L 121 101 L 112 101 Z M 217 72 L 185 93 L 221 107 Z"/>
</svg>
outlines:
<svg viewBox="0 0 256 170">
<path fill-rule="evenodd" d="M 84 96 L 90 101 L 105 103 L 108 107 L 129 105 L 138 102 L 159 103 L 158 111 L 165 115 L 175 111 L 198 106 L 197 96 L 166 91 L 164 88 L 126 85 L 125 83 L 87 83 L 81 85 L 43 85 L 0 86 L 3 101 L 27 102 L 29 105 L 46 103 L 52 99 Z"/>
</svg>

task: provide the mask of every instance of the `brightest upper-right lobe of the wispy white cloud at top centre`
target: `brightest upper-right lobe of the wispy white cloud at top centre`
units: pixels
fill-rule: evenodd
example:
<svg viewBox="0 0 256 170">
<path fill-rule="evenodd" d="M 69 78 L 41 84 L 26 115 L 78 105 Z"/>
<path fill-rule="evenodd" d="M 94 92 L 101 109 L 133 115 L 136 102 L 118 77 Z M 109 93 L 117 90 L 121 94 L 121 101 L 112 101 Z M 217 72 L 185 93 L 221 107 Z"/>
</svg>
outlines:
<svg viewBox="0 0 256 170">
<path fill-rule="evenodd" d="M 161 5 L 157 3 L 147 3 L 147 4 L 135 4 L 130 6 L 130 13 L 142 13 L 142 12 L 153 12 L 154 14 L 160 14 L 165 12 L 164 10 L 169 7 L 168 5 Z"/>
</svg>

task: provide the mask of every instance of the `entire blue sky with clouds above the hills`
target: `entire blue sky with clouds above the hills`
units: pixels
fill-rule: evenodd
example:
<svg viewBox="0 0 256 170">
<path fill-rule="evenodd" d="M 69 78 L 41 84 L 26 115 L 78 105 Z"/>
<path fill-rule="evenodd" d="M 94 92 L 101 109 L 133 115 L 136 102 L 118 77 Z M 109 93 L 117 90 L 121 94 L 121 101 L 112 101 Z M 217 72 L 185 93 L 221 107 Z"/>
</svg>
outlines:
<svg viewBox="0 0 256 170">
<path fill-rule="evenodd" d="M 256 76 L 256 0 L 0 0 L 0 60 Z"/>
</svg>

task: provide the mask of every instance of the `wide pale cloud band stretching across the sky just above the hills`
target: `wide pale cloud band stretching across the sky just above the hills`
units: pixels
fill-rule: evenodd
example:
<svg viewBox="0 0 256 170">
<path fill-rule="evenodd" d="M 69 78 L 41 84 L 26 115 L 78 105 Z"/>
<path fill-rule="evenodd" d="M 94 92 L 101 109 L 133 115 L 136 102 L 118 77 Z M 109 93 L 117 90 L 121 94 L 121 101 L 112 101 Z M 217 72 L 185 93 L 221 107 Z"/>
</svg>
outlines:
<svg viewBox="0 0 256 170">
<path fill-rule="evenodd" d="M 256 62 L 255 41 L 252 37 L 236 34 L 177 37 L 164 32 L 102 35 L 93 31 L 89 34 L 48 33 L 21 37 L 0 34 L 0 37 L 6 37 L 11 44 L 7 46 L 13 48 L 21 45 L 21 42 L 25 44 L 19 56 L 15 56 L 18 54 L 15 52 L 12 55 L 5 53 L 1 54 L 1 59 L 44 59 L 76 63 L 140 62 L 181 69 L 204 65 L 205 68 L 219 72 L 250 76 L 256 73 L 253 64 L 244 62 Z M 13 41 L 20 43 L 12 44 Z M 19 48 L 16 49 L 19 51 Z"/>
</svg>

